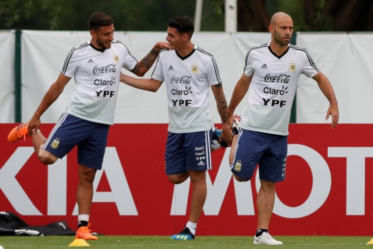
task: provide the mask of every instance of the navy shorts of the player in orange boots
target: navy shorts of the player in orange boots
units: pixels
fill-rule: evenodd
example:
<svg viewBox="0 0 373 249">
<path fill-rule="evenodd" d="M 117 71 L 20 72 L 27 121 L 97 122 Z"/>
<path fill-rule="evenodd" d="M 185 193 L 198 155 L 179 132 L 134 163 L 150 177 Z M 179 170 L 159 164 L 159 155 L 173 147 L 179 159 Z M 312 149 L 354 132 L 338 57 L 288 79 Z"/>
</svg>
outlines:
<svg viewBox="0 0 373 249">
<path fill-rule="evenodd" d="M 78 163 L 100 170 L 109 126 L 64 113 L 52 129 L 44 149 L 63 158 L 78 145 Z"/>
</svg>

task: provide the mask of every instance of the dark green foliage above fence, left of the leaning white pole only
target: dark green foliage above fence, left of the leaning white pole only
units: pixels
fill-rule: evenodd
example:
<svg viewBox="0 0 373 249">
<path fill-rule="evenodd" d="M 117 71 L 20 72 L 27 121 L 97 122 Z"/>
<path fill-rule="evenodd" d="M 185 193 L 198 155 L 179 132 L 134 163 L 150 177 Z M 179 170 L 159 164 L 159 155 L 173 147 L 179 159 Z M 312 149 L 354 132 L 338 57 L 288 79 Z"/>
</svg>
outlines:
<svg viewBox="0 0 373 249">
<path fill-rule="evenodd" d="M 194 18 L 195 0 L 0 0 L 0 29 L 87 30 L 96 11 L 116 30 L 165 31 L 170 18 Z"/>
</svg>

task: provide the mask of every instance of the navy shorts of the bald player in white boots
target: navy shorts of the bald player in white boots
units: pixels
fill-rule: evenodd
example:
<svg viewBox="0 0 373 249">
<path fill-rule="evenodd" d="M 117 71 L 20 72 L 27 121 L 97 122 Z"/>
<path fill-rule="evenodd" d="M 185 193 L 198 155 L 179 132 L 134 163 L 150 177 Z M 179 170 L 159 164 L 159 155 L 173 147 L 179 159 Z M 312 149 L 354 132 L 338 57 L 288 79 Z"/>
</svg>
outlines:
<svg viewBox="0 0 373 249">
<path fill-rule="evenodd" d="M 269 182 L 285 180 L 288 136 L 239 129 L 231 170 L 250 180 L 259 164 L 259 178 Z"/>
</svg>

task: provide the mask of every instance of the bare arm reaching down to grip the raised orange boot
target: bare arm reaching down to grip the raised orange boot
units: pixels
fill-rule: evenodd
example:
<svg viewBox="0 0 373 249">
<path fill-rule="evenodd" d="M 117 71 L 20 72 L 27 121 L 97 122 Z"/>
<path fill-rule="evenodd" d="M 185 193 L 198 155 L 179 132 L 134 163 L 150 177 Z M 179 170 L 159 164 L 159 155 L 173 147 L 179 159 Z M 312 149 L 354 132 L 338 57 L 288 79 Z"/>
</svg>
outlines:
<svg viewBox="0 0 373 249">
<path fill-rule="evenodd" d="M 29 121 L 29 133 L 33 130 L 37 130 L 40 126 L 41 115 L 56 101 L 56 99 L 63 92 L 65 86 L 71 78 L 60 73 L 56 82 L 54 82 L 44 95 L 39 107 L 37 107 L 33 117 Z"/>
</svg>

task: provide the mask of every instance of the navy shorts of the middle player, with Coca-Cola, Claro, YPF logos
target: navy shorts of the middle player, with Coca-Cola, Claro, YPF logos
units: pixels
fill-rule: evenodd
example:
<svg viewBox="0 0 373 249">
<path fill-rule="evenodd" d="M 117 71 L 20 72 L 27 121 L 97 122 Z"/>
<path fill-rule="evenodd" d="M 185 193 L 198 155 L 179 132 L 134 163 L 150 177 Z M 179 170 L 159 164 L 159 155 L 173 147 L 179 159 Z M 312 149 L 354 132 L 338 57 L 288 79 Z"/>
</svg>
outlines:
<svg viewBox="0 0 373 249">
<path fill-rule="evenodd" d="M 165 153 L 166 175 L 211 169 L 211 139 L 212 130 L 169 132 Z"/>
</svg>

